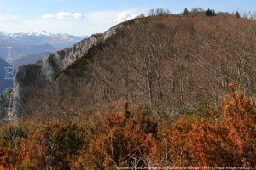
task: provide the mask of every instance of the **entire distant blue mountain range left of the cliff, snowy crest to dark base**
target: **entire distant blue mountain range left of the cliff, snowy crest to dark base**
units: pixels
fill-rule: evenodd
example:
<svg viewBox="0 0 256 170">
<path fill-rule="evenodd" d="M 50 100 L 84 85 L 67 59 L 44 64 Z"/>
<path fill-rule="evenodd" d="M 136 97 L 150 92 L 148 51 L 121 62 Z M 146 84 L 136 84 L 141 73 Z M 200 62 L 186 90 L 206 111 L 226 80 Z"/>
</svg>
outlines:
<svg viewBox="0 0 256 170">
<path fill-rule="evenodd" d="M 52 34 L 45 31 L 5 33 L 0 31 L 0 93 L 13 87 L 13 81 L 4 80 L 4 67 L 35 63 L 59 49 L 70 48 L 86 38 L 68 34 Z M 10 58 L 8 59 L 8 55 Z M 7 62 L 6 62 L 7 61 Z"/>
</svg>

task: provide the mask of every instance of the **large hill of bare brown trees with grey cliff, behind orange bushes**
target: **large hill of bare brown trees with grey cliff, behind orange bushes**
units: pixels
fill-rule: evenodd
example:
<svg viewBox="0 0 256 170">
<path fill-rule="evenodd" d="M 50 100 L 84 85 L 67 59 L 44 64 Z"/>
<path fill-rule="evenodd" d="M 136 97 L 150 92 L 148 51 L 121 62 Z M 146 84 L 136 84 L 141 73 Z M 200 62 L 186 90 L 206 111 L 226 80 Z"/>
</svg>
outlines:
<svg viewBox="0 0 256 170">
<path fill-rule="evenodd" d="M 20 67 L 15 111 L 60 116 L 119 99 L 147 104 L 159 114 L 191 111 L 220 101 L 231 82 L 255 95 L 255 54 L 253 20 L 229 14 L 131 20 Z"/>
</svg>

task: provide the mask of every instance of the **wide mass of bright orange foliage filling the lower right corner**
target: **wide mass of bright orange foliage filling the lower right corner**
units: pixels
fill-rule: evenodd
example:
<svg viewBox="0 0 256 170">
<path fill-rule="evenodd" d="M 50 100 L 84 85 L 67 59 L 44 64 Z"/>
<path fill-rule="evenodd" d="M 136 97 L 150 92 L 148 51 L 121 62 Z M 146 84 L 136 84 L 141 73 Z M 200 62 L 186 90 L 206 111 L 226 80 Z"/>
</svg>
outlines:
<svg viewBox="0 0 256 170">
<path fill-rule="evenodd" d="M 234 85 L 229 88 L 230 97 L 224 100 L 223 112 L 215 113 L 218 116 L 182 116 L 160 131 L 160 140 L 151 148 L 151 166 L 255 165 L 256 106 L 235 93 Z"/>
</svg>

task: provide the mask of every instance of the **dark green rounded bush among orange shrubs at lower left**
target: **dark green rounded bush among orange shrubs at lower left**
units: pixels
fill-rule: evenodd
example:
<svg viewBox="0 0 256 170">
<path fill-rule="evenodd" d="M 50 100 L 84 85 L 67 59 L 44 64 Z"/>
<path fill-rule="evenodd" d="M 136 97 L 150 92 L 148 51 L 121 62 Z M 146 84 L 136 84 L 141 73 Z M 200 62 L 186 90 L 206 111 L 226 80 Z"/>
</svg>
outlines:
<svg viewBox="0 0 256 170">
<path fill-rule="evenodd" d="M 84 144 L 82 129 L 71 122 L 49 124 L 44 128 L 44 139 L 47 145 L 46 159 L 51 166 L 69 168 L 68 158 L 73 156 Z"/>
</svg>

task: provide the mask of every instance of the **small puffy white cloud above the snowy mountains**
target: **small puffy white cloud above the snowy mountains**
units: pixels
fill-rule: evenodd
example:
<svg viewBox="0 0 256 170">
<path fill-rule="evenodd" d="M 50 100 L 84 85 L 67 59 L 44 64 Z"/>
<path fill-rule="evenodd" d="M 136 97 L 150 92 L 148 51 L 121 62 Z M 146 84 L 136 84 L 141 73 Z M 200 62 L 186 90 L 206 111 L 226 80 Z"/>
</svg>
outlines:
<svg viewBox="0 0 256 170">
<path fill-rule="evenodd" d="M 84 19 L 85 15 L 81 13 L 69 13 L 65 11 L 60 11 L 56 14 L 44 14 L 42 16 L 43 19 L 60 19 L 60 20 L 67 20 L 67 19 Z"/>
</svg>

